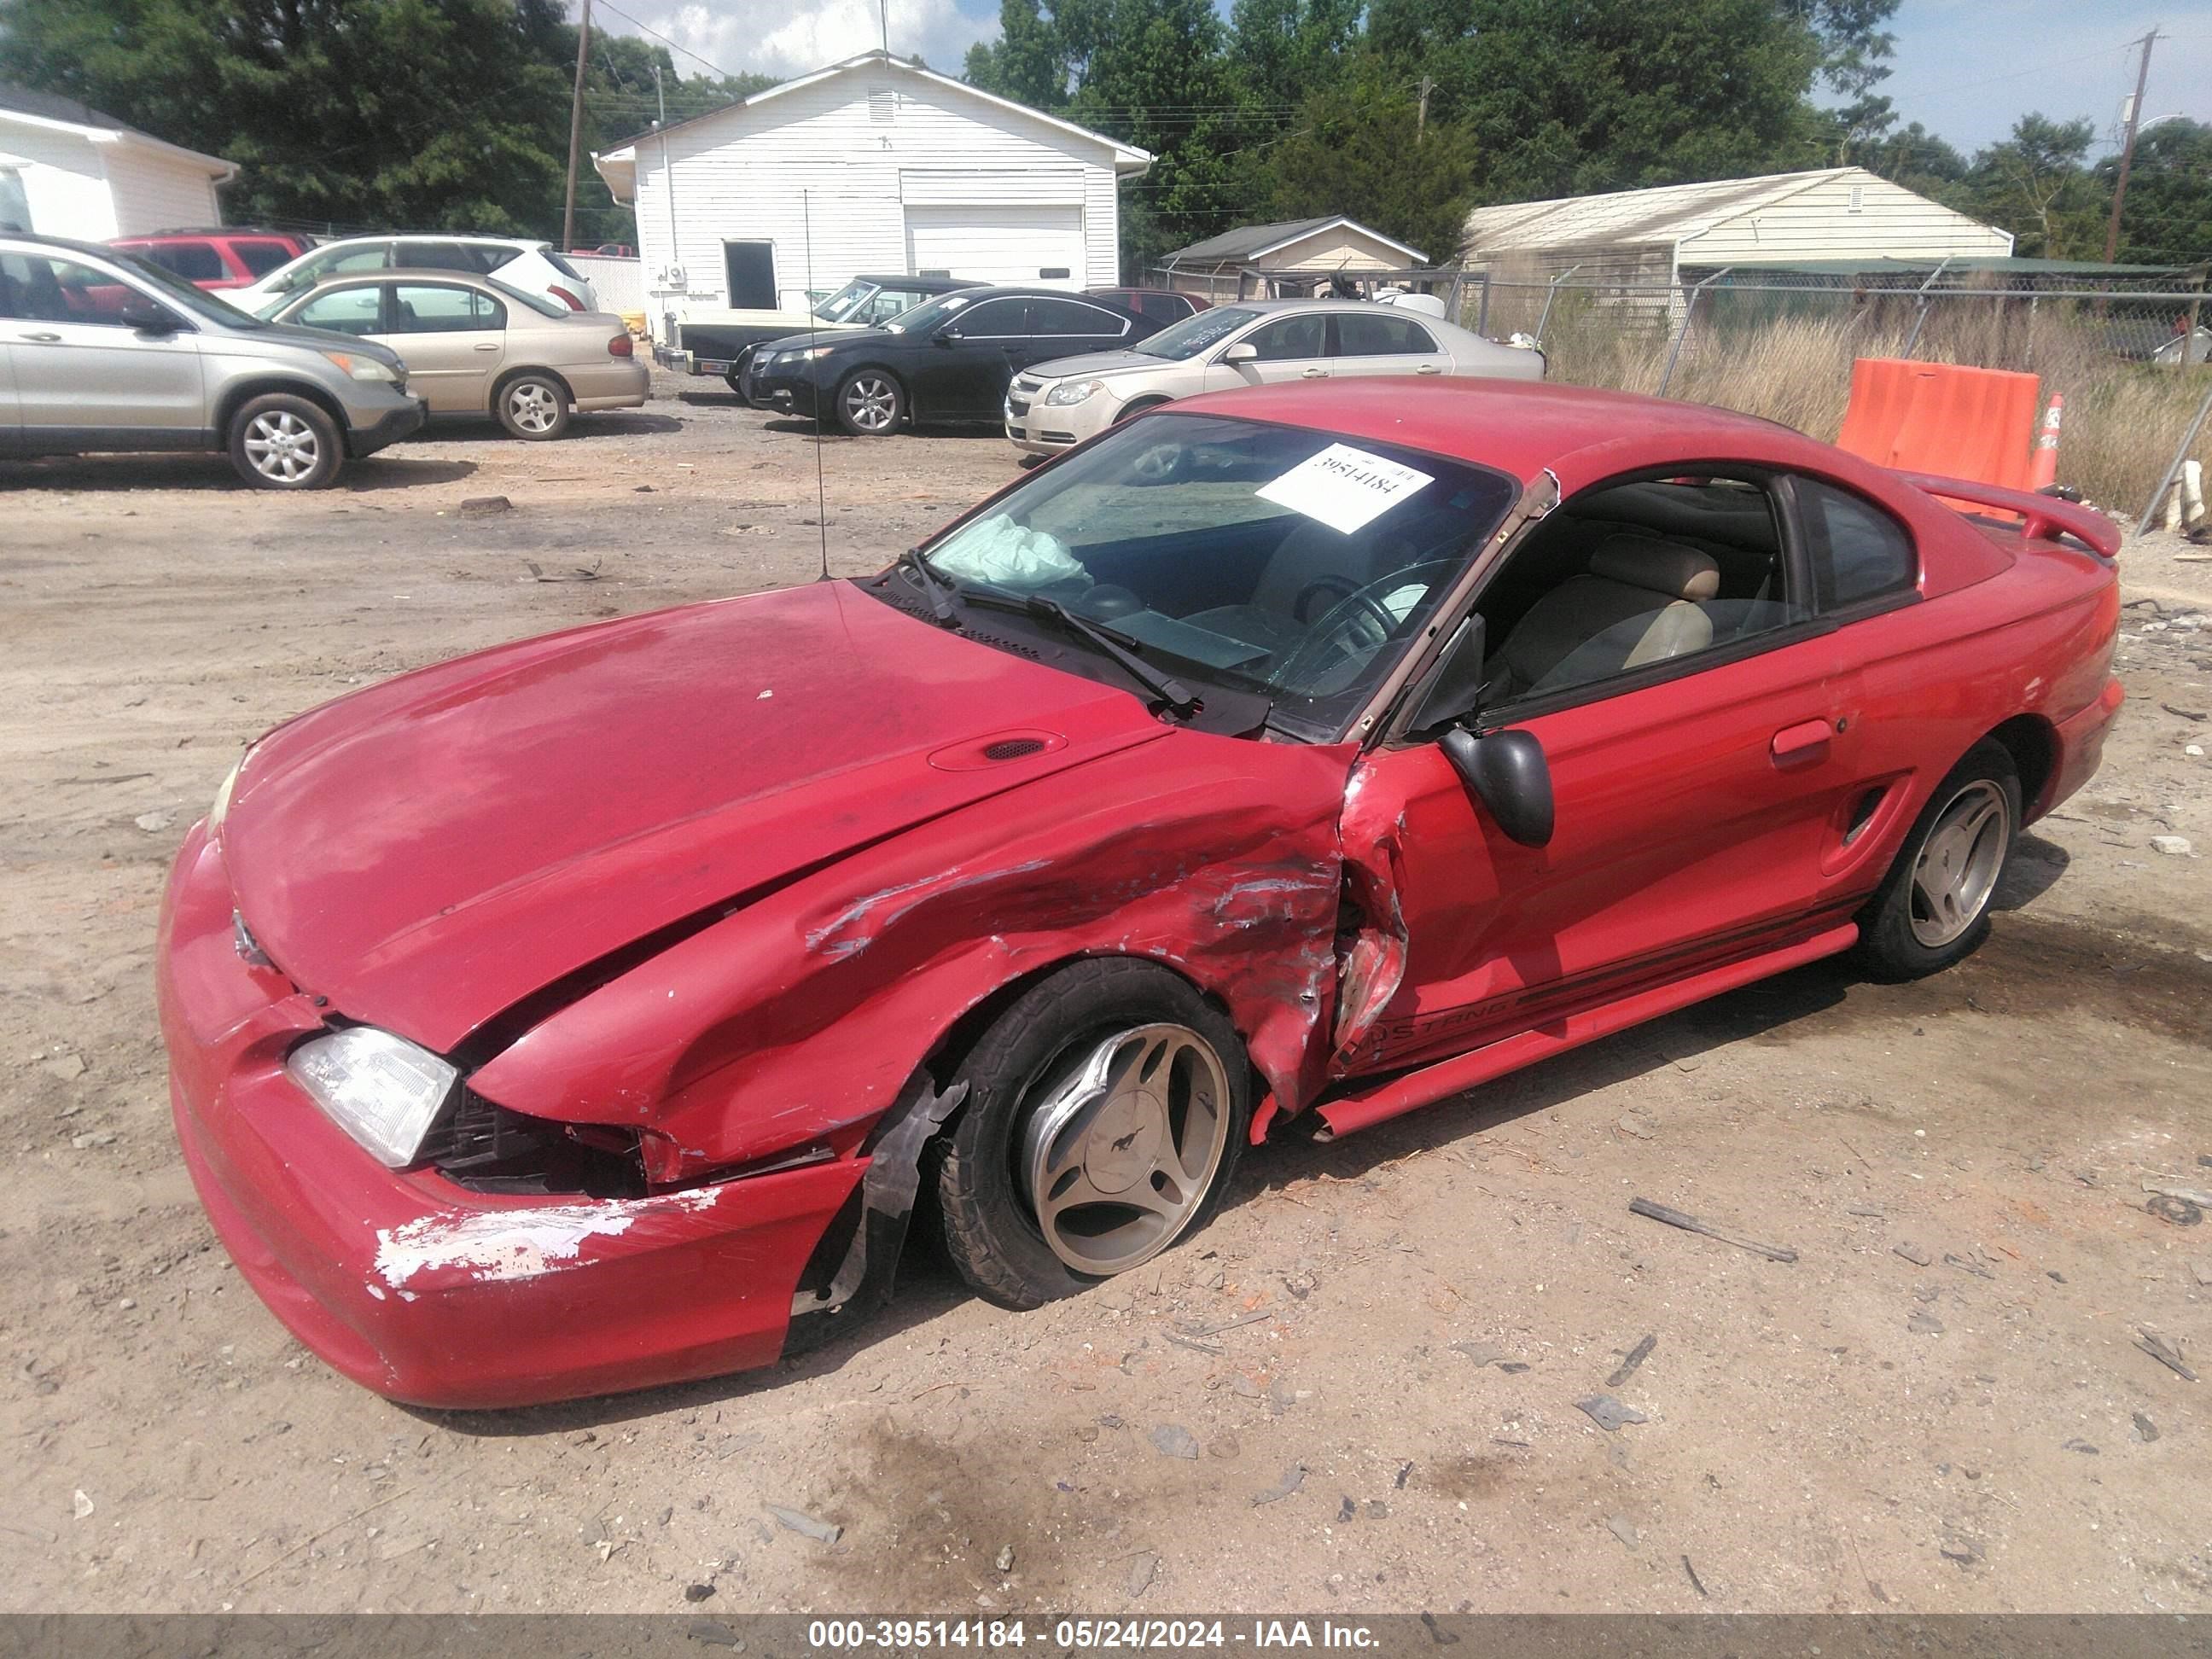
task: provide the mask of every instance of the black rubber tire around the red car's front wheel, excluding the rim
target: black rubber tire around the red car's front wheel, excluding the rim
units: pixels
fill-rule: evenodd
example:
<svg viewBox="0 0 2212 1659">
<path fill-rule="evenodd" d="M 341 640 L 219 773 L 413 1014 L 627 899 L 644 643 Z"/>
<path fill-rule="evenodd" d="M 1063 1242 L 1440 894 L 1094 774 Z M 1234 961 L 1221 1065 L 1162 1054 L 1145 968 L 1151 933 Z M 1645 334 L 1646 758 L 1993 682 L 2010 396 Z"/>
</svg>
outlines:
<svg viewBox="0 0 2212 1659">
<path fill-rule="evenodd" d="M 1228 1130 L 1199 1201 L 1144 1261 L 1212 1219 L 1252 1121 L 1252 1066 L 1237 1029 L 1164 967 L 1130 958 L 1075 962 L 1024 991 L 953 1071 L 969 1095 L 938 1144 L 938 1208 L 945 1250 L 978 1296 L 1040 1307 L 1099 1283 L 1102 1274 L 1077 1272 L 1046 1243 L 1020 1168 L 1024 1130 L 1053 1082 L 1117 1033 L 1144 1026 L 1181 1026 L 1212 1046 Z"/>
</svg>

